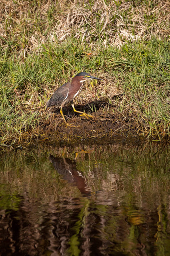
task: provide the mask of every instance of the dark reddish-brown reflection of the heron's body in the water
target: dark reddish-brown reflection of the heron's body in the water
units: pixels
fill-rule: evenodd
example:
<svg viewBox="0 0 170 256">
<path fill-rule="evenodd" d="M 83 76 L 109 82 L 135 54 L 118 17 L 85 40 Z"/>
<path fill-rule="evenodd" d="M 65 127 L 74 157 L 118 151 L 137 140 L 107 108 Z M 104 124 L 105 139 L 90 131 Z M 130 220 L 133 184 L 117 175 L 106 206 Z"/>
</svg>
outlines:
<svg viewBox="0 0 170 256">
<path fill-rule="evenodd" d="M 62 175 L 63 179 L 72 185 L 76 185 L 81 194 L 90 195 L 87 191 L 87 184 L 82 174 L 76 169 L 76 161 L 69 158 L 60 158 L 49 156 L 49 161 L 52 163 L 55 170 Z"/>
</svg>

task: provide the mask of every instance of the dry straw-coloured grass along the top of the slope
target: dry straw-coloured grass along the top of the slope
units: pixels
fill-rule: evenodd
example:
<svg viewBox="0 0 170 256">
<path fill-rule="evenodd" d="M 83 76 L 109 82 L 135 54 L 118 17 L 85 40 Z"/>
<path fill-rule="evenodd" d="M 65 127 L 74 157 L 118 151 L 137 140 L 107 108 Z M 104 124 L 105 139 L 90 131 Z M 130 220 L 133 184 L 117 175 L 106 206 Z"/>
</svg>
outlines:
<svg viewBox="0 0 170 256">
<path fill-rule="evenodd" d="M 1 0 L 0 44 L 13 42 L 23 55 L 46 42 L 69 37 L 96 47 L 120 47 L 126 41 L 168 34 L 169 1 L 12 1 Z"/>
</svg>

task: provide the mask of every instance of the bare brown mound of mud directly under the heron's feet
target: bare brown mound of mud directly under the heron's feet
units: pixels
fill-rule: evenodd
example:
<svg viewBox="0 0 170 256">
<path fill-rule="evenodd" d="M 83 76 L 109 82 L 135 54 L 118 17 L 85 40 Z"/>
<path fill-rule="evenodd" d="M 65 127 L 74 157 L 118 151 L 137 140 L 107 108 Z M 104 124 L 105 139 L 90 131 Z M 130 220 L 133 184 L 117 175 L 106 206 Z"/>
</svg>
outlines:
<svg viewBox="0 0 170 256">
<path fill-rule="evenodd" d="M 69 116 L 67 112 L 65 117 L 70 125 L 65 125 L 60 114 L 55 113 L 49 116 L 49 119 L 42 124 L 41 129 L 48 139 L 53 138 L 54 140 L 111 139 L 116 136 L 138 137 L 132 120 L 129 122 L 129 119 L 122 118 L 120 122 L 111 112 L 102 110 L 92 115 L 93 118 L 87 119 L 79 114 Z"/>
</svg>

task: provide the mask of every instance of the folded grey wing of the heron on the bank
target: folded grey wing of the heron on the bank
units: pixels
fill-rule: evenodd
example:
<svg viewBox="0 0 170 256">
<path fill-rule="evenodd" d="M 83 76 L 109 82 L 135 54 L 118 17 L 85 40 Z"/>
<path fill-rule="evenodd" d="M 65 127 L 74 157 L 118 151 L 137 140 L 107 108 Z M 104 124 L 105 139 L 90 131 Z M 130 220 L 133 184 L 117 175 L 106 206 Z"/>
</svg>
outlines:
<svg viewBox="0 0 170 256">
<path fill-rule="evenodd" d="M 46 103 L 47 107 L 53 106 L 53 105 L 59 105 L 62 101 L 64 101 L 68 97 L 68 83 L 62 84 L 51 96 L 51 98 Z"/>
</svg>

